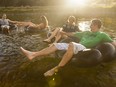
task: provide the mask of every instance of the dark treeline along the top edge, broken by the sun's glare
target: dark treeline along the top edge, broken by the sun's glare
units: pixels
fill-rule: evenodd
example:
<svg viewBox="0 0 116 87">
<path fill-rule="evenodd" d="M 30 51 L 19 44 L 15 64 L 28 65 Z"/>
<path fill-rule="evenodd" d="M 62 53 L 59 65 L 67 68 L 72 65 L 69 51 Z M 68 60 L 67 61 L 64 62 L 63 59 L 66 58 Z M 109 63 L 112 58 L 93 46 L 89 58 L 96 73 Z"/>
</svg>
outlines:
<svg viewBox="0 0 116 87">
<path fill-rule="evenodd" d="M 0 0 L 0 7 L 64 5 L 67 0 Z M 88 0 L 88 4 L 116 4 L 116 0 Z"/>
</svg>

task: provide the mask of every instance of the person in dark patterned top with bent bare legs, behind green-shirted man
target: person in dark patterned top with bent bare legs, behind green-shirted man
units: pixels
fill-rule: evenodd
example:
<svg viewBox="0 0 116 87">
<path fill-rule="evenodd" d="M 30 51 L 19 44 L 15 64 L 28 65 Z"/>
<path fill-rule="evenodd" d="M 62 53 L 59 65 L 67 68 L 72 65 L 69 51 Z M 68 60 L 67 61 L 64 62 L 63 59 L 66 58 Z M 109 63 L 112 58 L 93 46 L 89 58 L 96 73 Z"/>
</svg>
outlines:
<svg viewBox="0 0 116 87">
<path fill-rule="evenodd" d="M 74 16 L 69 16 L 67 19 L 67 23 L 63 25 L 62 28 L 56 28 L 48 37 L 47 39 L 44 40 L 44 42 L 51 43 L 51 40 L 55 38 L 53 43 L 57 43 L 61 38 L 67 38 L 67 35 L 61 35 L 60 31 L 64 32 L 79 32 L 79 28 L 76 25 L 76 18 Z"/>
</svg>

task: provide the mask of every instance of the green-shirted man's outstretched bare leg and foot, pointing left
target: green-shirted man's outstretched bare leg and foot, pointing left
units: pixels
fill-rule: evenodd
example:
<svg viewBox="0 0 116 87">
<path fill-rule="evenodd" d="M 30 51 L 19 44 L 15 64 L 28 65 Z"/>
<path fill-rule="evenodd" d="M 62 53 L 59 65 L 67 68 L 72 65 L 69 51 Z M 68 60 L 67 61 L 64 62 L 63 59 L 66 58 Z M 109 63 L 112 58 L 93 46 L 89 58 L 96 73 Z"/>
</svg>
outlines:
<svg viewBox="0 0 116 87">
<path fill-rule="evenodd" d="M 52 45 L 51 47 L 47 47 L 43 50 L 40 50 L 38 52 L 31 52 L 31 51 L 25 50 L 22 47 L 20 47 L 20 49 L 30 60 L 32 60 L 33 58 L 37 56 L 44 56 L 44 55 L 51 54 L 57 50 L 57 48 L 54 45 Z"/>
</svg>

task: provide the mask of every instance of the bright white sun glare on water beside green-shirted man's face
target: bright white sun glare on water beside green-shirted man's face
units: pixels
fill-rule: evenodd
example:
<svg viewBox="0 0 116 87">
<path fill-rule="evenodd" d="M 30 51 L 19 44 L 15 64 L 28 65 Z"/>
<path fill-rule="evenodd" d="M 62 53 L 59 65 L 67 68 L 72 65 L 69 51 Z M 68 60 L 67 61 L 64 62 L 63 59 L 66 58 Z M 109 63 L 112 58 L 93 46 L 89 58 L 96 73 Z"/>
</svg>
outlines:
<svg viewBox="0 0 116 87">
<path fill-rule="evenodd" d="M 90 30 L 90 21 L 80 21 L 79 22 L 79 29 L 82 31 Z"/>
</svg>

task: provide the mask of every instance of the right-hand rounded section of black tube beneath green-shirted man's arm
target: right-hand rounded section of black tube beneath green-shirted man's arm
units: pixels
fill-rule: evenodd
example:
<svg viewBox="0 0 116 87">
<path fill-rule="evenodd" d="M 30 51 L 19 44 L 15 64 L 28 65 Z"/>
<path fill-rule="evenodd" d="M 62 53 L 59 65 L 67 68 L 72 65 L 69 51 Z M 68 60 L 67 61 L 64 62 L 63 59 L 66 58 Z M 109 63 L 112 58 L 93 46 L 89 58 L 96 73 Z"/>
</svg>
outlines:
<svg viewBox="0 0 116 87">
<path fill-rule="evenodd" d="M 115 59 L 114 55 L 116 51 L 115 51 L 115 47 L 111 43 L 100 44 L 96 47 L 96 49 L 98 49 L 101 52 L 103 62 L 109 62 Z"/>
</svg>

